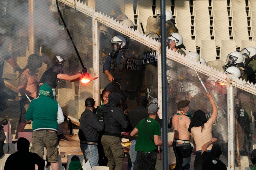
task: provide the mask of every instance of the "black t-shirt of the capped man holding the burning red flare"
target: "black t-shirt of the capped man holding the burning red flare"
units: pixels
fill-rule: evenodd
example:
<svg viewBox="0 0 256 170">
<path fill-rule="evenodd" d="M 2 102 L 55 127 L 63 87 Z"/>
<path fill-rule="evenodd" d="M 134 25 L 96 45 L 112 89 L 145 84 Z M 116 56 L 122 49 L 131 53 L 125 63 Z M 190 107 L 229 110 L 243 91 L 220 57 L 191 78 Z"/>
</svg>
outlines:
<svg viewBox="0 0 256 170">
<path fill-rule="evenodd" d="M 53 72 L 53 68 L 49 68 L 48 70 L 46 70 L 44 72 L 39 83 L 48 83 L 51 88 L 55 89 L 58 84 L 58 80 L 59 80 L 57 78 L 58 74 L 59 73 Z M 64 74 L 64 73 L 61 73 L 61 74 Z"/>
</svg>

